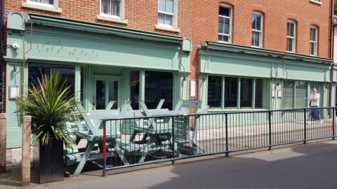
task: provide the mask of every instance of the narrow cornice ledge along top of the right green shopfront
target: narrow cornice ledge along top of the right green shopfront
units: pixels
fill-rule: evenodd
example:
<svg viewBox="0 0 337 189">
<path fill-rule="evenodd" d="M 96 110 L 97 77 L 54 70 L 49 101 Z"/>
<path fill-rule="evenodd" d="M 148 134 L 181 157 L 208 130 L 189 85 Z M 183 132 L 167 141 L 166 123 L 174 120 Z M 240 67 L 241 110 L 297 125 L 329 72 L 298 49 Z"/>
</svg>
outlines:
<svg viewBox="0 0 337 189">
<path fill-rule="evenodd" d="M 322 57 L 313 57 L 309 55 L 300 55 L 291 52 L 282 52 L 277 50 L 267 50 L 263 48 L 253 48 L 244 45 L 233 45 L 227 43 L 218 43 L 213 41 L 203 41 L 202 47 L 211 50 L 225 50 L 230 52 L 241 52 L 251 55 L 263 55 L 269 57 L 278 57 L 284 59 L 297 59 L 304 62 L 311 62 L 316 64 L 333 64 L 333 59 L 327 59 Z"/>
</svg>

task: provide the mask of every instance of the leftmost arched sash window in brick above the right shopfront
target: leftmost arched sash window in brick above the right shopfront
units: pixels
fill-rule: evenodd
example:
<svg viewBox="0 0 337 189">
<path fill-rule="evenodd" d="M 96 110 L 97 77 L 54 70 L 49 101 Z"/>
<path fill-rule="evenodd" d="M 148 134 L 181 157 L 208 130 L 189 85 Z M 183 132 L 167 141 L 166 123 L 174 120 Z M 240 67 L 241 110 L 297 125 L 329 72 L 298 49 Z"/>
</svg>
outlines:
<svg viewBox="0 0 337 189">
<path fill-rule="evenodd" d="M 230 43 L 232 33 L 232 7 L 221 5 L 219 8 L 219 28 L 218 40 L 224 43 Z"/>
</svg>

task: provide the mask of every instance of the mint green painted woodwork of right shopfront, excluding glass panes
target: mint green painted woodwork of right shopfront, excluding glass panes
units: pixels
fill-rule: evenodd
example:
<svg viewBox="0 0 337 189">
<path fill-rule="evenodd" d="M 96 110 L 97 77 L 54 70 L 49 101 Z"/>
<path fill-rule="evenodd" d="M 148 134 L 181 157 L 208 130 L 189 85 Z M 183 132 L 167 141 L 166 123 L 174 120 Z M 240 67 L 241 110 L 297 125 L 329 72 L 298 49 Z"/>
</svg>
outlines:
<svg viewBox="0 0 337 189">
<path fill-rule="evenodd" d="M 310 86 L 315 85 L 320 94 L 320 106 L 329 106 L 329 83 L 331 59 L 298 55 L 288 52 L 250 48 L 241 45 L 230 45 L 204 41 L 199 49 L 199 99 L 207 105 L 209 76 L 222 76 L 222 85 L 225 88 L 225 77 L 252 78 L 253 99 L 256 79 L 263 80 L 263 109 L 284 109 L 286 102 L 283 97 L 285 81 L 303 81 L 307 87 L 308 101 Z M 237 96 L 240 96 L 238 82 Z M 278 96 L 277 92 L 282 95 Z M 293 88 L 293 107 L 296 107 L 296 88 Z M 222 92 L 223 96 L 224 91 Z M 272 96 L 275 94 L 275 96 Z M 223 101 L 224 97 L 222 98 Z M 222 102 L 223 104 L 223 102 Z M 240 98 L 237 98 L 237 107 L 212 111 L 238 111 Z M 308 103 L 309 104 L 309 103 Z M 308 104 L 306 106 L 308 106 Z M 250 109 L 250 108 L 249 108 Z M 251 109 L 254 107 L 254 101 Z M 244 109 L 247 110 L 247 109 Z"/>
</svg>

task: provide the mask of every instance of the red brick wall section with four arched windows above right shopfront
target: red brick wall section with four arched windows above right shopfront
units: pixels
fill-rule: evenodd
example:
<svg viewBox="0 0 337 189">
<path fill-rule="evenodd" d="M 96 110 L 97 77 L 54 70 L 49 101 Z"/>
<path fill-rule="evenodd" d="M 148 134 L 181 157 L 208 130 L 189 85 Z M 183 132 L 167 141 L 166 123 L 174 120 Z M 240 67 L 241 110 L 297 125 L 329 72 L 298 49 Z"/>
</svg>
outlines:
<svg viewBox="0 0 337 189">
<path fill-rule="evenodd" d="M 192 75 L 197 78 L 197 45 L 201 41 L 218 41 L 218 7 L 220 3 L 232 6 L 232 43 L 251 45 L 251 15 L 253 10 L 263 13 L 263 48 L 286 51 L 286 21 L 297 22 L 296 52 L 309 55 L 310 25 L 319 27 L 318 56 L 329 57 L 330 0 L 322 5 L 309 0 L 223 0 L 194 1 Z"/>
</svg>

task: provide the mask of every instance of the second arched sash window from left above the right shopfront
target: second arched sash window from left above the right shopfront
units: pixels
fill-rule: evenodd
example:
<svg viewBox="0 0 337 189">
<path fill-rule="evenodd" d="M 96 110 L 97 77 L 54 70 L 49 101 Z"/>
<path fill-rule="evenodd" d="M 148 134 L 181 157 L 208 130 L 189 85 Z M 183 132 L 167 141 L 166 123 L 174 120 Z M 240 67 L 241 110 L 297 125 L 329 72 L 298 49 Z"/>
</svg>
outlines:
<svg viewBox="0 0 337 189">
<path fill-rule="evenodd" d="M 253 12 L 251 17 L 251 45 L 262 48 L 263 15 Z"/>
</svg>

